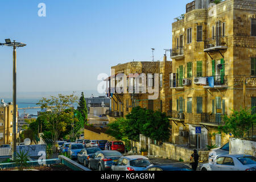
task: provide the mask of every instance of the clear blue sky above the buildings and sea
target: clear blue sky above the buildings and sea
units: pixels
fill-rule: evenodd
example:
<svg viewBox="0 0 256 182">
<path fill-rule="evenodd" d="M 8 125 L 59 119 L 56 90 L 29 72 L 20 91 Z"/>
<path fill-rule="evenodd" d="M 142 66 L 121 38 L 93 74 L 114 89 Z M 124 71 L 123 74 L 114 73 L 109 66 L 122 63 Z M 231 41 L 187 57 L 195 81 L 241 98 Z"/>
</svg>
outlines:
<svg viewBox="0 0 256 182">
<path fill-rule="evenodd" d="M 46 17 L 38 4 L 46 3 Z M 97 75 L 127 61 L 162 60 L 171 23 L 191 0 L 13 0 L 0 2 L 0 42 L 18 51 L 18 92 L 97 90 Z M 170 59 L 170 58 L 169 58 Z M 0 92 L 12 91 L 12 49 L 0 47 Z"/>
</svg>

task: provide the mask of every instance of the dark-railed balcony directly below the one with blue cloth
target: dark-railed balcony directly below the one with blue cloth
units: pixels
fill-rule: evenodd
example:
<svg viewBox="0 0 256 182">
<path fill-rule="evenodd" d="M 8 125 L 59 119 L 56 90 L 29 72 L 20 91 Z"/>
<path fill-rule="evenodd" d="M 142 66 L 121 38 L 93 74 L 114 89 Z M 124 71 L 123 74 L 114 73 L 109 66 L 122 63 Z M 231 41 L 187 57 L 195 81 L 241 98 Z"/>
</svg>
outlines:
<svg viewBox="0 0 256 182">
<path fill-rule="evenodd" d="M 225 114 L 209 114 L 209 113 L 201 113 L 201 125 L 208 125 L 208 126 L 220 126 L 224 125 L 225 122 L 223 121 L 222 117 Z"/>
</svg>

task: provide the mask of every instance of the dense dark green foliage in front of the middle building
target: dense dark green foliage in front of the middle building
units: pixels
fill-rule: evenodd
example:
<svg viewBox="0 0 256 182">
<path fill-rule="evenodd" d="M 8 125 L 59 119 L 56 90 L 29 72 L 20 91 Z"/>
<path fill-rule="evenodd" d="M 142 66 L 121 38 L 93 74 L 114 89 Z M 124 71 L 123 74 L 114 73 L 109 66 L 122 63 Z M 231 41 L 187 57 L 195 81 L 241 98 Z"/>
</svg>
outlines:
<svg viewBox="0 0 256 182">
<path fill-rule="evenodd" d="M 171 124 L 165 113 L 135 107 L 126 118 L 110 123 L 107 133 L 117 139 L 139 140 L 139 134 L 153 140 L 165 141 L 170 138 Z"/>
</svg>

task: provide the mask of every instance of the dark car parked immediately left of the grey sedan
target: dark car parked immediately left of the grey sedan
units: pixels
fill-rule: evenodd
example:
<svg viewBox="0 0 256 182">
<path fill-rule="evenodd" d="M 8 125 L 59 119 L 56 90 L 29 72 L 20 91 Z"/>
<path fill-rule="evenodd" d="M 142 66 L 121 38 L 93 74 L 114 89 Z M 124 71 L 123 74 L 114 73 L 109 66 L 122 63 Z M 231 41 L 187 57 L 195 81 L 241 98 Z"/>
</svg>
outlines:
<svg viewBox="0 0 256 182">
<path fill-rule="evenodd" d="M 101 151 L 101 149 L 98 147 L 84 148 L 77 154 L 77 162 L 82 163 L 87 167 L 89 158 L 91 158 L 97 151 Z"/>
</svg>

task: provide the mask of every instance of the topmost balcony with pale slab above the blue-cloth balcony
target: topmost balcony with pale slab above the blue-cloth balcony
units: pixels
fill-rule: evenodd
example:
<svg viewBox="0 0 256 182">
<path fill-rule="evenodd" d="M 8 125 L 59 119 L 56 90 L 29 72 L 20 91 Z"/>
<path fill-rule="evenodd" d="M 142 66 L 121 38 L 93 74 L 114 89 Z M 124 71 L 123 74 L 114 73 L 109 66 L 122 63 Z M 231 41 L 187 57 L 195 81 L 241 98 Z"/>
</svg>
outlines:
<svg viewBox="0 0 256 182">
<path fill-rule="evenodd" d="M 227 36 L 214 36 L 204 41 L 204 52 L 215 52 L 228 48 Z"/>
</svg>

